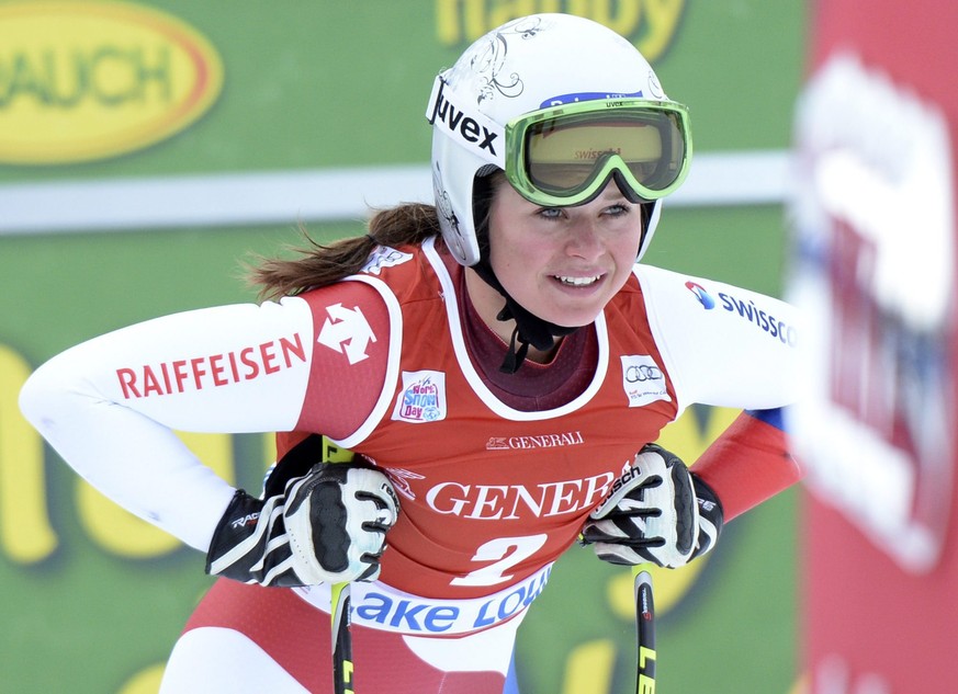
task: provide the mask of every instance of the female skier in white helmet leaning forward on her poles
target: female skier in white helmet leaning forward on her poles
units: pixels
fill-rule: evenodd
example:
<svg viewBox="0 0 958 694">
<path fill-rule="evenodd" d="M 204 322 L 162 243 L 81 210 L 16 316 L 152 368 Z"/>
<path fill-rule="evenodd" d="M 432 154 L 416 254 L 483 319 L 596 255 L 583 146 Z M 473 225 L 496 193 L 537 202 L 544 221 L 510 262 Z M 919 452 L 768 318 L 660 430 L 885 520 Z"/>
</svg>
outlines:
<svg viewBox="0 0 958 694">
<path fill-rule="evenodd" d="M 358 581 L 354 691 L 498 694 L 581 533 L 681 566 L 798 479 L 776 426 L 792 309 L 636 264 L 692 145 L 629 42 L 508 22 L 426 115 L 435 206 L 266 262 L 261 305 L 95 338 L 23 389 L 68 464 L 222 577 L 164 692 L 330 692 L 330 585 Z M 695 402 L 745 411 L 690 473 L 646 444 Z M 280 432 L 279 463 L 255 497 L 173 430 Z M 319 434 L 356 460 L 325 464 Z"/>
</svg>

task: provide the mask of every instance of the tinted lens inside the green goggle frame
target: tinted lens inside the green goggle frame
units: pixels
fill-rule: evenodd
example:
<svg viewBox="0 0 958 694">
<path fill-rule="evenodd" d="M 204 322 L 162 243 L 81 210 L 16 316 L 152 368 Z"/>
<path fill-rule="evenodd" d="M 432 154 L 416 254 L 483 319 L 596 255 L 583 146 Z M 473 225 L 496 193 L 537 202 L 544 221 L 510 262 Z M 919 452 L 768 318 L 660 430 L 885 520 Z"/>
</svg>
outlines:
<svg viewBox="0 0 958 694">
<path fill-rule="evenodd" d="M 660 197 L 685 174 L 686 137 L 678 112 L 651 109 L 559 115 L 525 135 L 525 173 L 539 191 L 576 196 L 619 171 L 633 192 Z"/>
</svg>

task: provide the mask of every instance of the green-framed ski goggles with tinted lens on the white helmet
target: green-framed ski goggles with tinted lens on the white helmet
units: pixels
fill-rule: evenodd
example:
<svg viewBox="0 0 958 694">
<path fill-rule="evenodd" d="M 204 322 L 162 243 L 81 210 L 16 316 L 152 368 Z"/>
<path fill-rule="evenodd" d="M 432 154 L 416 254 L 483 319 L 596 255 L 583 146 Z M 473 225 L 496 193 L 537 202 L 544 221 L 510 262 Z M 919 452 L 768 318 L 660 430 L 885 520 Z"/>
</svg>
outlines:
<svg viewBox="0 0 958 694">
<path fill-rule="evenodd" d="M 687 109 L 645 99 L 542 109 L 506 125 L 506 177 L 538 205 L 578 205 L 615 175 L 634 202 L 675 191 L 691 159 Z"/>
</svg>

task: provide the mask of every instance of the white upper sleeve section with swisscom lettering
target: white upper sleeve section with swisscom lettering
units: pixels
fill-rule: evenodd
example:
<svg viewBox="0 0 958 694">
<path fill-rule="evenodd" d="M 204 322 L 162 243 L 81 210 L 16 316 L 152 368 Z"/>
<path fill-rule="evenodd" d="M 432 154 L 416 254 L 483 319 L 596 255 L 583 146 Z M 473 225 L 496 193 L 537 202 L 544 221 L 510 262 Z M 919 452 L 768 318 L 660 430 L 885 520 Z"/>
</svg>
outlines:
<svg viewBox="0 0 958 694">
<path fill-rule="evenodd" d="M 678 397 L 741 409 L 790 405 L 798 392 L 798 310 L 722 282 L 636 265 L 649 322 Z"/>
</svg>

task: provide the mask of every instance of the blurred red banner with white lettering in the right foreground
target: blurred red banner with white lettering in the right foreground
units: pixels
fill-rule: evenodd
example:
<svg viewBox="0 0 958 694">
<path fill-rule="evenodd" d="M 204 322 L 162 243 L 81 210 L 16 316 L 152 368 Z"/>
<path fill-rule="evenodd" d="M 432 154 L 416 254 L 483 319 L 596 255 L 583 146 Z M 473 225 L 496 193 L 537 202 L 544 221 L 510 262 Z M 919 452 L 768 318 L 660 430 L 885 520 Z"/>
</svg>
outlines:
<svg viewBox="0 0 958 694">
<path fill-rule="evenodd" d="M 958 3 L 814 3 L 796 118 L 814 694 L 958 691 Z"/>
</svg>

